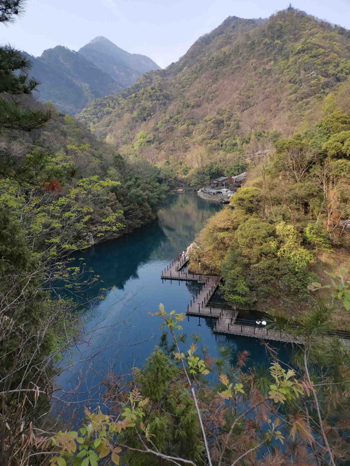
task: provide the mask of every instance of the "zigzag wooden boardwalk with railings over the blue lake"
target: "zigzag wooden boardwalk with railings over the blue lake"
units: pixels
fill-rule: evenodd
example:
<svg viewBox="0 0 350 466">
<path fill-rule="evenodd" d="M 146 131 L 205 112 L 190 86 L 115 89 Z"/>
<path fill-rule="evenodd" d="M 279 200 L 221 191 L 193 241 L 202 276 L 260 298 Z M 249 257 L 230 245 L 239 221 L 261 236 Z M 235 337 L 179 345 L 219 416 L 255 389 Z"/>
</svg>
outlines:
<svg viewBox="0 0 350 466">
<path fill-rule="evenodd" d="M 201 289 L 192 296 L 187 305 L 186 315 L 215 319 L 215 334 L 250 336 L 302 344 L 299 339 L 283 331 L 258 327 L 253 321 L 238 319 L 238 310 L 235 306 L 229 307 L 210 301 L 222 277 L 217 274 L 204 274 L 203 271 L 197 270 L 189 272 L 186 270 L 188 262 L 188 259 L 179 255 L 161 272 L 162 280 L 196 281 L 201 285 Z"/>
</svg>

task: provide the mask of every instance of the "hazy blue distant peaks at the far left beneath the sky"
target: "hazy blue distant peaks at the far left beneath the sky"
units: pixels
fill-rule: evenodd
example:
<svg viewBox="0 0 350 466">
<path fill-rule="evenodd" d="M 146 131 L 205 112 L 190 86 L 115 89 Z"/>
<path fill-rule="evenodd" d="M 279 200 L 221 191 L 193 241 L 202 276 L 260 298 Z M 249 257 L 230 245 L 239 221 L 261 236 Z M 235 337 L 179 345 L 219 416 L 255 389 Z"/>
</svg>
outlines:
<svg viewBox="0 0 350 466">
<path fill-rule="evenodd" d="M 115 94 L 160 67 L 145 55 L 130 54 L 105 37 L 90 41 L 78 52 L 57 45 L 30 58 L 31 75 L 42 84 L 36 98 L 51 101 L 63 113 L 81 111 L 96 98 Z"/>
</svg>

